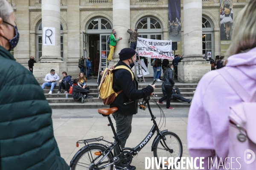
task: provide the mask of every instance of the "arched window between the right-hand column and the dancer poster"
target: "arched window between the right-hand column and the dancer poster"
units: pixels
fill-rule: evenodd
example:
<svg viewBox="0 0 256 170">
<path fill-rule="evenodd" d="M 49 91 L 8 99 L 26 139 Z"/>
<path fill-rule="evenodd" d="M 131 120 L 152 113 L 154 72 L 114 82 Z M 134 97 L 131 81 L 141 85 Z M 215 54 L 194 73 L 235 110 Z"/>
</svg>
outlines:
<svg viewBox="0 0 256 170">
<path fill-rule="evenodd" d="M 202 47 L 203 55 L 209 57 L 214 57 L 212 44 L 213 44 L 213 28 L 212 23 L 207 17 L 202 17 Z"/>
</svg>

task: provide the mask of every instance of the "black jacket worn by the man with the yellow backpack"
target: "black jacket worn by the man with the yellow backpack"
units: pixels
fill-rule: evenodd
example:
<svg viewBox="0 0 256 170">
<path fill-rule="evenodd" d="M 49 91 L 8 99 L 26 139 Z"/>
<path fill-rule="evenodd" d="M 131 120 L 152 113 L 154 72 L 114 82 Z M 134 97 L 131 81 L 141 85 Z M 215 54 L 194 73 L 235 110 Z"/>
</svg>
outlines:
<svg viewBox="0 0 256 170">
<path fill-rule="evenodd" d="M 125 65 L 129 68 L 129 66 L 122 61 L 119 61 L 116 64 L 116 66 L 119 65 Z M 123 115 L 136 114 L 138 109 L 138 99 L 143 99 L 154 91 L 150 85 L 148 85 L 146 88 L 138 90 L 138 82 L 136 77 L 134 76 L 134 81 L 132 81 L 131 73 L 125 69 L 114 71 L 113 90 L 116 93 L 120 90 L 123 91 L 116 96 L 116 99 L 110 105 L 110 108 L 118 108 L 118 113 Z M 129 99 L 131 99 L 131 101 Z"/>
</svg>

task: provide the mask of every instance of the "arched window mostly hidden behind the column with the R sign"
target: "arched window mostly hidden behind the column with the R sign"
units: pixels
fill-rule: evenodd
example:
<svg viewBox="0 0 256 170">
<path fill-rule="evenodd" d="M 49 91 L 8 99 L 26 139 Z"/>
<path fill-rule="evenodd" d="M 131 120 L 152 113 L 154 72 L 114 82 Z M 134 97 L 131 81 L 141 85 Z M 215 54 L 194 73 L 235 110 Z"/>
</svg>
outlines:
<svg viewBox="0 0 256 170">
<path fill-rule="evenodd" d="M 63 33 L 62 33 L 63 27 L 61 24 L 61 57 L 62 57 L 62 61 L 63 61 Z M 41 59 L 40 57 L 42 57 L 42 23 L 38 24 L 37 27 L 37 47 L 36 47 L 36 62 L 39 62 Z"/>
</svg>

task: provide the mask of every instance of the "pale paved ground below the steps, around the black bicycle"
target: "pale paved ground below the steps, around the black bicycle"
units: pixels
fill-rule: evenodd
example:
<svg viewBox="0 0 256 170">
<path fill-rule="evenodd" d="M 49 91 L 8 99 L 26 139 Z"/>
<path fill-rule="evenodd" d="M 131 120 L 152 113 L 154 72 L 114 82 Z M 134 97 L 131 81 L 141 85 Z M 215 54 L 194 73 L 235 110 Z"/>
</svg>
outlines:
<svg viewBox="0 0 256 170">
<path fill-rule="evenodd" d="M 157 122 L 160 122 L 160 119 L 163 122 L 163 116 L 161 118 L 159 109 L 153 108 L 152 112 L 156 116 Z M 160 130 L 168 129 L 176 133 L 183 144 L 183 156 L 190 157 L 186 139 L 189 108 L 163 110 L 163 112 L 165 113 L 166 124 Z M 111 118 L 114 123 L 113 117 Z M 105 140 L 114 141 L 111 127 L 107 126 L 108 119 L 100 115 L 98 109 L 53 109 L 52 121 L 61 157 L 65 159 L 67 164 L 70 164 L 70 160 L 75 153 L 83 147 L 81 144 L 79 147 L 76 147 L 76 141 L 78 140 L 104 136 Z M 148 134 L 152 125 L 153 122 L 151 121 L 149 111 L 139 110 L 133 117 L 132 132 L 125 146 L 137 146 Z M 132 165 L 136 166 L 137 170 L 145 170 L 145 157 L 153 157 L 153 152 L 151 152 L 153 139 L 154 136 L 140 151 L 138 156 L 134 157 Z M 156 167 L 154 168 L 156 169 Z"/>
</svg>

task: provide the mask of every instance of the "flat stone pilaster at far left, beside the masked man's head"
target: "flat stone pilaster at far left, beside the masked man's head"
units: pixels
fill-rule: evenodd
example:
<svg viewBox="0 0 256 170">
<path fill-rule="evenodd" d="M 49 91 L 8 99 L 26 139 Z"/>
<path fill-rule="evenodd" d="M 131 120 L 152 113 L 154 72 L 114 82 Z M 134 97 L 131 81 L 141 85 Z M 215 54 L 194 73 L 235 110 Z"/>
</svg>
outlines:
<svg viewBox="0 0 256 170">
<path fill-rule="evenodd" d="M 20 33 L 20 40 L 15 48 L 17 62 L 28 68 L 29 61 L 29 0 L 16 2 L 16 24 Z"/>
</svg>

